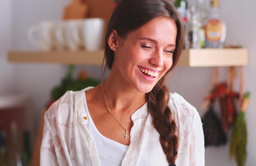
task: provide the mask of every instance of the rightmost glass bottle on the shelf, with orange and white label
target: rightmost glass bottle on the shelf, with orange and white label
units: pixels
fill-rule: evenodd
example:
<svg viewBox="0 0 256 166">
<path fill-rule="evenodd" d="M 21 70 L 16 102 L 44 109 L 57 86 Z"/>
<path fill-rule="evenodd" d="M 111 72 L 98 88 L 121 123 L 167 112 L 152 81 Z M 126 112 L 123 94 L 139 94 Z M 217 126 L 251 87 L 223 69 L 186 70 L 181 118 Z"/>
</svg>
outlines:
<svg viewBox="0 0 256 166">
<path fill-rule="evenodd" d="M 219 18 L 219 0 L 211 0 L 211 13 L 204 24 L 205 47 L 223 48 L 227 34 L 226 24 Z"/>
</svg>

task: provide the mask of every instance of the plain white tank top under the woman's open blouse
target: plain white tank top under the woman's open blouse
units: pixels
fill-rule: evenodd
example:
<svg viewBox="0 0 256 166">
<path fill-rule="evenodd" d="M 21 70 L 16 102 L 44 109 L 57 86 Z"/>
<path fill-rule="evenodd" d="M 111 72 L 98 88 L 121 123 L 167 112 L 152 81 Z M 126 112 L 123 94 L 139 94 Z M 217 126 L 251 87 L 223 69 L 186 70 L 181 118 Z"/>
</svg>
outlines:
<svg viewBox="0 0 256 166">
<path fill-rule="evenodd" d="M 88 111 L 85 97 L 84 105 L 86 113 L 88 114 L 88 129 L 90 130 L 96 144 L 101 166 L 121 166 L 128 146 L 120 144 L 116 141 L 113 141 L 112 139 L 101 135 L 101 133 L 94 125 L 94 122 L 92 121 L 92 117 Z"/>
</svg>

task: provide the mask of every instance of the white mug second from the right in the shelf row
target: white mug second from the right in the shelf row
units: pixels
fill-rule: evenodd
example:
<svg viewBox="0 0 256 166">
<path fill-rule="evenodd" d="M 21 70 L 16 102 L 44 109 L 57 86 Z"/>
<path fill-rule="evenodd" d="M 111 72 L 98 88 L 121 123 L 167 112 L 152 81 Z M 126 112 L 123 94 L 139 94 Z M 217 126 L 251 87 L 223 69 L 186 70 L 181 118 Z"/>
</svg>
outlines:
<svg viewBox="0 0 256 166">
<path fill-rule="evenodd" d="M 83 49 L 82 43 L 78 43 L 74 40 L 74 29 L 80 29 L 83 25 L 83 19 L 67 20 L 65 22 L 65 37 L 67 43 L 67 49 L 70 51 L 76 51 Z"/>
</svg>

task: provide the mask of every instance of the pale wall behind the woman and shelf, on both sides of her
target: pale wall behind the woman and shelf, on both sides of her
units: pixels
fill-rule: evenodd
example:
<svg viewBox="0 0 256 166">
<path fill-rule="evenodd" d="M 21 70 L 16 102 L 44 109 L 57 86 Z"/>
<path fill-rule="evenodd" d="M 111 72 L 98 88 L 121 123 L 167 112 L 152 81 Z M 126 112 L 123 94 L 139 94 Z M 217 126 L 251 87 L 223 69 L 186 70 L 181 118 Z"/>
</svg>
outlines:
<svg viewBox="0 0 256 166">
<path fill-rule="evenodd" d="M 0 93 L 25 92 L 33 96 L 35 111 L 38 119 L 41 108 L 49 99 L 49 91 L 60 83 L 66 72 L 66 67 L 58 64 L 9 64 L 6 62 L 6 52 L 8 42 L 12 36 L 13 49 L 36 49 L 27 40 L 26 31 L 31 25 L 35 25 L 40 20 L 57 20 L 61 18 L 63 7 L 70 0 L 9 0 L 0 1 L 1 20 L 4 19 L 6 27 L 0 26 Z M 245 2 L 246 1 L 246 2 Z M 245 0 L 220 0 L 222 18 L 227 22 L 227 44 L 241 44 L 249 49 L 249 65 L 245 67 L 245 91 L 251 92 L 251 100 L 256 101 L 256 21 L 254 16 L 256 11 L 256 1 Z M 193 2 L 193 0 L 189 0 Z M 207 0 L 209 2 L 209 0 Z M 2 6 L 3 4 L 3 6 Z M 13 18 L 12 15 L 13 14 Z M 13 23 L 11 22 L 13 20 Z M 3 29 L 4 28 L 4 29 Z M 3 29 L 3 30 L 2 30 Z M 12 33 L 11 30 L 13 29 Z M 4 31 L 4 32 L 2 32 Z M 2 42 L 2 35 L 4 43 Z M 6 42 L 7 41 L 7 42 Z M 3 43 L 3 45 L 2 45 Z M 1 68 L 2 67 L 2 68 Z M 14 68 L 16 70 L 14 70 Z M 77 70 L 84 69 L 79 66 Z M 4 70 L 4 71 L 2 71 Z M 99 75 L 99 67 L 86 67 L 91 76 Z M 220 80 L 225 80 L 227 68 L 221 68 Z M 15 77 L 14 77 L 15 76 Z M 213 68 L 191 68 L 178 67 L 172 77 L 168 80 L 168 85 L 199 109 L 203 103 L 204 96 L 209 94 L 212 85 Z M 238 81 L 238 80 L 237 80 Z M 15 82 L 15 83 L 13 83 Z M 236 84 L 238 90 L 238 84 Z M 247 110 L 246 119 L 248 127 L 248 157 L 247 166 L 256 165 L 256 129 L 254 128 L 254 117 L 256 117 L 256 103 L 252 102 Z M 204 111 L 200 111 L 203 115 Z M 235 166 L 233 160 L 228 157 L 228 145 L 220 148 L 206 148 L 206 166 Z"/>
</svg>

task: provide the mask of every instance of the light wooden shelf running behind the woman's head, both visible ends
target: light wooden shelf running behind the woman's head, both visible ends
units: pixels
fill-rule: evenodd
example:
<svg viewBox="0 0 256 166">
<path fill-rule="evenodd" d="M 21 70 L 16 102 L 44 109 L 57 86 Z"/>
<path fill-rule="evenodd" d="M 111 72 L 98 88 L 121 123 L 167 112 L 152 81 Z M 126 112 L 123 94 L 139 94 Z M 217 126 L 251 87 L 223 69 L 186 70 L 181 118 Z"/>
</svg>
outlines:
<svg viewBox="0 0 256 166">
<path fill-rule="evenodd" d="M 10 51 L 8 60 L 13 63 L 60 63 L 74 65 L 101 65 L 104 50 L 86 51 Z M 180 66 L 215 67 L 245 66 L 248 64 L 247 49 L 187 49 L 183 50 Z"/>
</svg>

